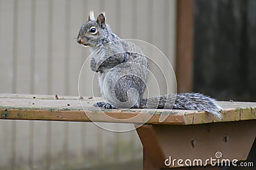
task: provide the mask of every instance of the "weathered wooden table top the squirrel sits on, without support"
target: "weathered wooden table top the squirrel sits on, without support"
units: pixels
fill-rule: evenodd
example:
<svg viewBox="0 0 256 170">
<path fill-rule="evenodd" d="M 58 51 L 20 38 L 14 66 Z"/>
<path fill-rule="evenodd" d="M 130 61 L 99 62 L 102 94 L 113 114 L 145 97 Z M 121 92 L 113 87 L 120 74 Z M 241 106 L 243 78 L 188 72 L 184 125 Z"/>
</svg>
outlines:
<svg viewBox="0 0 256 170">
<path fill-rule="evenodd" d="M 100 98 L 96 98 L 97 101 Z M 206 124 L 256 119 L 256 103 L 220 101 L 218 120 L 211 113 L 191 110 L 113 109 L 92 107 L 93 97 L 0 94 L 1 119 L 117 122 L 131 124 Z M 82 107 L 83 106 L 83 107 Z M 161 116 L 162 115 L 162 116 Z M 159 118 L 161 121 L 159 121 Z"/>
</svg>

